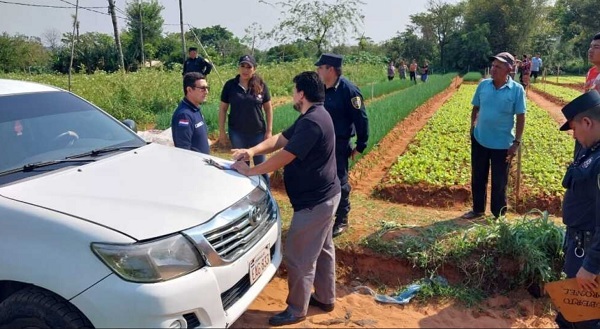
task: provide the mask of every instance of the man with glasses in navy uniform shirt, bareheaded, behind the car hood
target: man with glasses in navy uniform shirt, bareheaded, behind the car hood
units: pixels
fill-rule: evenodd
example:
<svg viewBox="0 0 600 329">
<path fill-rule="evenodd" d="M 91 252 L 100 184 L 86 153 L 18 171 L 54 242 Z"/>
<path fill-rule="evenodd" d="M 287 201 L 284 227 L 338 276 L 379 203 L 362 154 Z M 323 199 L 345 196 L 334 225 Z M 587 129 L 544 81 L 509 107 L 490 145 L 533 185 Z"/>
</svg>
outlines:
<svg viewBox="0 0 600 329">
<path fill-rule="evenodd" d="M 198 72 L 183 76 L 185 97 L 171 118 L 171 133 L 175 147 L 209 154 L 208 128 L 200 111 L 200 104 L 208 96 L 206 77 Z"/>
</svg>

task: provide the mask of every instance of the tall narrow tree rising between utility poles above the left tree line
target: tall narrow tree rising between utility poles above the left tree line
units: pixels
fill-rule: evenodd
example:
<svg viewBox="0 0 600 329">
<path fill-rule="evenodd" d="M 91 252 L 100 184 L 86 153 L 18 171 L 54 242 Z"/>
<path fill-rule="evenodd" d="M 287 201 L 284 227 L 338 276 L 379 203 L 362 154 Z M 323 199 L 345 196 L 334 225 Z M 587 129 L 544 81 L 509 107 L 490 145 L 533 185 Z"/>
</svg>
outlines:
<svg viewBox="0 0 600 329">
<path fill-rule="evenodd" d="M 150 44 L 156 47 L 160 42 L 164 23 L 161 16 L 163 9 L 164 7 L 157 0 L 130 2 L 125 8 L 128 18 L 127 32 L 130 36 L 136 36 L 128 40 L 127 52 L 129 56 L 133 55 L 135 60 L 141 62 L 143 58 L 140 35 L 143 35 L 144 45 Z M 125 42 L 123 43 L 125 44 Z"/>
</svg>

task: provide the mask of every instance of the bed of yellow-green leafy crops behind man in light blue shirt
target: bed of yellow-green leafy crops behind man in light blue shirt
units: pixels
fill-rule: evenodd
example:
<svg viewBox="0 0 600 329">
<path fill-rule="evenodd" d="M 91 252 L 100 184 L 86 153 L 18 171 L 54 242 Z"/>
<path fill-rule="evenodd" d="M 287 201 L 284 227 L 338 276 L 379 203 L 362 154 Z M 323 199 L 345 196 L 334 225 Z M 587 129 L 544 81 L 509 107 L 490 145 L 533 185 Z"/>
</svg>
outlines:
<svg viewBox="0 0 600 329">
<path fill-rule="evenodd" d="M 415 186 L 420 190 L 445 191 L 444 197 L 450 199 L 456 196 L 448 195 L 452 193 L 448 191 L 460 192 L 463 198 L 460 201 L 467 201 L 464 199 L 469 193 L 464 192 L 470 191 L 471 178 L 470 102 L 475 89 L 474 85 L 461 86 L 436 112 L 377 188 L 381 195 L 394 198 L 390 190 L 397 190 L 398 186 Z M 573 140 L 558 130 L 557 123 L 545 110 L 532 102 L 528 102 L 527 109 L 521 146 L 521 195 L 530 204 L 557 208 L 564 192 L 561 180 L 571 160 Z M 516 175 L 514 167 L 515 163 L 513 176 Z M 401 197 L 406 201 L 405 195 Z M 439 204 L 444 204 L 444 200 Z"/>
</svg>

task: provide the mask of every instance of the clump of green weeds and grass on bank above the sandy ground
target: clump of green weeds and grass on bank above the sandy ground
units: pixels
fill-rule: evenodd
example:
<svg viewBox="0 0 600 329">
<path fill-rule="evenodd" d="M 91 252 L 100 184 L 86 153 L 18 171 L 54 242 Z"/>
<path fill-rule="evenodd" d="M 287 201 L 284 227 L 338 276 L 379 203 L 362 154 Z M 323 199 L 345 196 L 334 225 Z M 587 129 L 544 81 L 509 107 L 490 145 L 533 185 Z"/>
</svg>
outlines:
<svg viewBox="0 0 600 329">
<path fill-rule="evenodd" d="M 411 229 L 414 234 L 393 234 L 400 225 L 382 222 L 377 233 L 363 239 L 363 246 L 410 261 L 434 277 L 442 269 L 462 278 L 454 288 L 434 287 L 437 293 L 461 297 L 469 291 L 508 291 L 557 280 L 561 276 L 564 229 L 549 220 L 547 212 L 533 211 L 515 220 L 500 218 L 459 226 L 438 222 Z M 398 232 L 399 233 L 399 232 Z M 436 293 L 424 291 L 425 295 Z M 463 296 L 463 298 L 467 298 Z M 468 298 L 465 299 L 468 303 Z"/>
</svg>

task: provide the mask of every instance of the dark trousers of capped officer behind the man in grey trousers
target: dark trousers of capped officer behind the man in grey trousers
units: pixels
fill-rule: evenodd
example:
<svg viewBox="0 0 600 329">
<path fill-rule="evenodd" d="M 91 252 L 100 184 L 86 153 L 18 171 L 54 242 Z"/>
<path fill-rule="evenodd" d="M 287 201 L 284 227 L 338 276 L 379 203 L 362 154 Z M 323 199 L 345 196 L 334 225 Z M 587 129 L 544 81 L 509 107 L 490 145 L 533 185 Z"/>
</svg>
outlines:
<svg viewBox="0 0 600 329">
<path fill-rule="evenodd" d="M 337 175 L 342 187 L 340 204 L 335 212 L 335 222 L 337 224 L 348 223 L 348 213 L 350 212 L 350 190 L 352 187 L 348 183 L 348 157 L 350 157 L 352 147 L 350 140 L 337 139 L 335 141 L 335 162 L 337 165 Z"/>
</svg>

